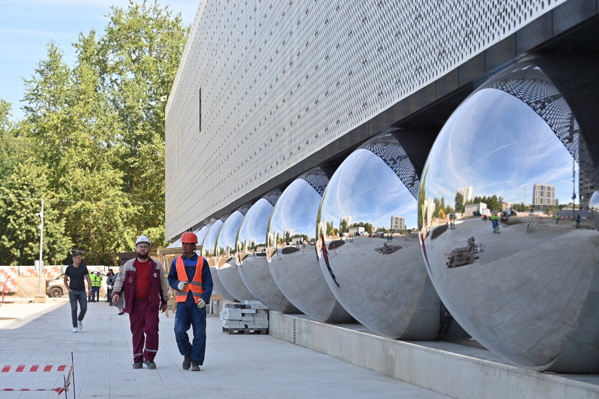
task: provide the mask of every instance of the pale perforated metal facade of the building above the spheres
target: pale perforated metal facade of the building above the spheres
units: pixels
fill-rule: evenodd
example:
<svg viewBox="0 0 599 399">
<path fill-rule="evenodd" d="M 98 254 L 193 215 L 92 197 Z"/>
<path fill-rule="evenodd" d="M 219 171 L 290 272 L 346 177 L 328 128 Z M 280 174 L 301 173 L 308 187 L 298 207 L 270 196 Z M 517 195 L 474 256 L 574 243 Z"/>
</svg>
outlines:
<svg viewBox="0 0 599 399">
<path fill-rule="evenodd" d="M 167 238 L 562 2 L 201 1 L 167 104 Z"/>
</svg>

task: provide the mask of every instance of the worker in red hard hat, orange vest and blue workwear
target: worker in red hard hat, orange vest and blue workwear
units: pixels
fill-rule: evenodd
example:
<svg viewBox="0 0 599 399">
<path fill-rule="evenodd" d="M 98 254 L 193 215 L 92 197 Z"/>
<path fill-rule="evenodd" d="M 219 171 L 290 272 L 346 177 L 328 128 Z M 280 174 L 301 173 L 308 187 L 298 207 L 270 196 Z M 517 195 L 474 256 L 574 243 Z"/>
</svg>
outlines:
<svg viewBox="0 0 599 399">
<path fill-rule="evenodd" d="M 176 292 L 175 338 L 183 355 L 183 370 L 199 371 L 206 351 L 206 304 L 212 295 L 212 275 L 208 261 L 195 252 L 198 236 L 187 231 L 181 235 L 183 255 L 173 259 L 168 283 Z M 199 267 L 198 267 L 199 265 Z M 193 341 L 187 331 L 193 329 Z"/>
</svg>

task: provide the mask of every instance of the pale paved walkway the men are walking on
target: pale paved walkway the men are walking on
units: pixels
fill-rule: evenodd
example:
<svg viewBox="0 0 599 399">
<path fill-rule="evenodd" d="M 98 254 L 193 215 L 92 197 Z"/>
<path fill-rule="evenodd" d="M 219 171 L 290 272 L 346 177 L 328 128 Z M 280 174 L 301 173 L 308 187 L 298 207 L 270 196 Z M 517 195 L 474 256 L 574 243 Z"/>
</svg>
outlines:
<svg viewBox="0 0 599 399">
<path fill-rule="evenodd" d="M 208 316 L 202 371 L 181 370 L 174 315 L 160 316 L 158 370 L 133 370 L 128 315 L 107 303 L 90 303 L 83 331 L 71 332 L 66 298 L 47 304 L 0 307 L 0 370 L 6 365 L 70 364 L 75 358 L 77 398 L 446 398 L 270 335 L 228 335 Z M 352 350 L 350 347 L 347 350 Z M 56 392 L 3 392 L 54 388 L 64 373 L 0 373 L 2 398 L 55 398 Z M 60 397 L 64 397 L 62 394 Z M 72 398 L 72 391 L 68 392 Z"/>
</svg>

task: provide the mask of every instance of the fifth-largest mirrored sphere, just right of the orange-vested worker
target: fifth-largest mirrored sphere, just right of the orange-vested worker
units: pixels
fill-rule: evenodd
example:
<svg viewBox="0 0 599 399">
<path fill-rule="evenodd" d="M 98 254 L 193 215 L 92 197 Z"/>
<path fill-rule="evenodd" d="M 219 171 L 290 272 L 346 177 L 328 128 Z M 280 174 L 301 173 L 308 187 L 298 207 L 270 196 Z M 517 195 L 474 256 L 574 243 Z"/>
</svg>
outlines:
<svg viewBox="0 0 599 399">
<path fill-rule="evenodd" d="M 258 299 L 256 295 L 247 289 L 246 283 L 241 280 L 237 261 L 235 260 L 237 232 L 251 206 L 251 204 L 246 204 L 234 211 L 223 224 L 219 232 L 219 238 L 216 240 L 216 273 L 226 290 L 240 302 Z"/>
</svg>

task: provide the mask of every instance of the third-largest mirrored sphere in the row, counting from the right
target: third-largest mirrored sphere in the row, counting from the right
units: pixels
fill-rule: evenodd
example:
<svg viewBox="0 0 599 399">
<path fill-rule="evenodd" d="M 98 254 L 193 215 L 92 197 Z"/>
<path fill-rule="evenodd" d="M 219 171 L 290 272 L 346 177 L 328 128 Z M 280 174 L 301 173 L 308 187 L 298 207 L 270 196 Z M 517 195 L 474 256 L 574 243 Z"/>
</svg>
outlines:
<svg viewBox="0 0 599 399">
<path fill-rule="evenodd" d="M 314 168 L 294 180 L 277 201 L 268 225 L 268 261 L 283 295 L 302 313 L 321 322 L 350 322 L 316 258 L 316 229 L 329 175 Z"/>
</svg>

